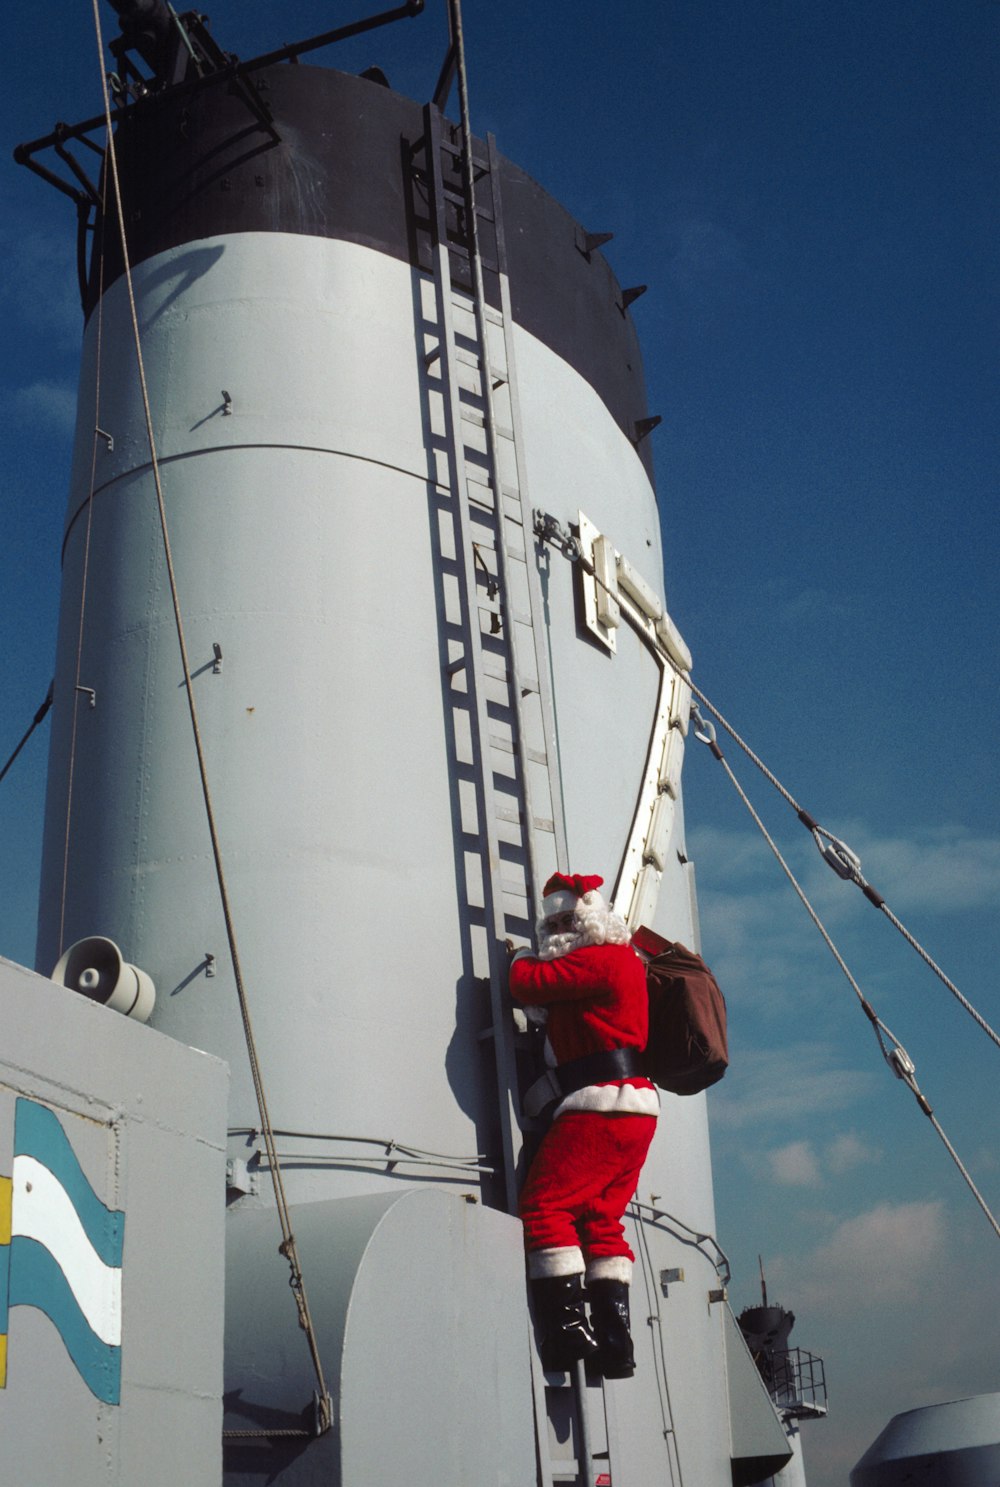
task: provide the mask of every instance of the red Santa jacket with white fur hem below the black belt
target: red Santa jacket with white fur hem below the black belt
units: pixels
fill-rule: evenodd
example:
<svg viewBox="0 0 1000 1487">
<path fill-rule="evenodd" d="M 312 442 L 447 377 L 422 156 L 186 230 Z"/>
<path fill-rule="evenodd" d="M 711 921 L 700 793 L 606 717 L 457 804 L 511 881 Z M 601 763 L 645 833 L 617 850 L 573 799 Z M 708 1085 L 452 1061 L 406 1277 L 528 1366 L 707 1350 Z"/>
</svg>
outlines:
<svg viewBox="0 0 1000 1487">
<path fill-rule="evenodd" d="M 516 956 L 510 995 L 548 1010 L 548 1041 L 557 1065 L 609 1048 L 644 1048 L 649 1032 L 646 968 L 631 946 L 586 944 L 554 961 Z M 555 1114 L 589 1109 L 658 1115 L 659 1096 L 638 1075 L 588 1084 L 567 1094 Z"/>
</svg>

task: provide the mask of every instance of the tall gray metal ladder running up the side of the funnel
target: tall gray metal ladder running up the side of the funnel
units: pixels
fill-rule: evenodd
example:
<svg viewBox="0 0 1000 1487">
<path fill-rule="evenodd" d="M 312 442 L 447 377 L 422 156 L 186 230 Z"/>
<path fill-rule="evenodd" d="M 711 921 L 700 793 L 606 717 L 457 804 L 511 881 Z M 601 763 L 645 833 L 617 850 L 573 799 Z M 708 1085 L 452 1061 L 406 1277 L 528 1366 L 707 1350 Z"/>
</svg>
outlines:
<svg viewBox="0 0 1000 1487">
<path fill-rule="evenodd" d="M 530 935 L 545 876 L 565 865 L 565 827 L 496 143 L 490 138 L 485 156 L 473 155 L 467 129 L 454 131 L 427 106 L 424 153 L 438 332 L 424 360 L 440 382 L 460 616 L 449 626 L 446 671 L 458 764 L 467 766 L 470 787 L 461 801 L 466 880 L 473 907 L 482 901 L 485 943 L 476 944 L 476 959 L 490 981 L 506 1206 L 516 1213 L 522 1142 L 504 941 Z M 485 266 L 481 225 L 496 244 Z M 484 272 L 496 281 L 491 296 Z"/>
</svg>

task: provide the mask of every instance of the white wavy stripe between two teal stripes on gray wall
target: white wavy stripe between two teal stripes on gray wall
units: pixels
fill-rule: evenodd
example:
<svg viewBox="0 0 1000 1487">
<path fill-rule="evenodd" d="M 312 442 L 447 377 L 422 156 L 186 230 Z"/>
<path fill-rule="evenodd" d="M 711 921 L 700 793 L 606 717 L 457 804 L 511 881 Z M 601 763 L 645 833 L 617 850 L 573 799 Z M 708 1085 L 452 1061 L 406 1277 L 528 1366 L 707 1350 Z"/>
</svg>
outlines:
<svg viewBox="0 0 1000 1487">
<path fill-rule="evenodd" d="M 13 1158 L 10 1233 L 43 1245 L 65 1276 L 80 1312 L 103 1343 L 122 1341 L 122 1271 L 91 1245 L 70 1197 L 34 1157 Z"/>
</svg>

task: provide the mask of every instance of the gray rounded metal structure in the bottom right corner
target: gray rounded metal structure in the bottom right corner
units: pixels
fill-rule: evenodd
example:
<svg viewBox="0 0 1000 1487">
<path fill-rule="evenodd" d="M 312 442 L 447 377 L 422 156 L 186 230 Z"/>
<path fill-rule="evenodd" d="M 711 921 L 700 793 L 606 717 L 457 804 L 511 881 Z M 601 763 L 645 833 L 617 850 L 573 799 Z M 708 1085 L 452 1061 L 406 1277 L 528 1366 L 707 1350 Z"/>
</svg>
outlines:
<svg viewBox="0 0 1000 1487">
<path fill-rule="evenodd" d="M 987 1487 L 1000 1481 L 1000 1393 L 893 1416 L 851 1472 L 851 1487 Z"/>
</svg>

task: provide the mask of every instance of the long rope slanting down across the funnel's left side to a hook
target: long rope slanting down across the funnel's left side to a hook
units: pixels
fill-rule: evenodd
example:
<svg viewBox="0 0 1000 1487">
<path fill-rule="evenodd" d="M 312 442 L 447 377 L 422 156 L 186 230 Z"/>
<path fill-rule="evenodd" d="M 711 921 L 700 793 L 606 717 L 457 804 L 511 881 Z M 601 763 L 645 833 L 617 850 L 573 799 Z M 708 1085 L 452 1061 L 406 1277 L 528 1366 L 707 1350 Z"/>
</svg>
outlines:
<svg viewBox="0 0 1000 1487">
<path fill-rule="evenodd" d="M 103 34 L 101 34 L 101 18 L 100 18 L 100 10 L 98 10 L 98 0 L 92 0 L 92 3 L 94 3 L 94 27 L 95 27 L 95 31 L 97 31 L 98 57 L 101 58 L 101 64 L 103 64 L 104 39 L 103 39 Z M 228 938 L 228 943 L 229 943 L 229 955 L 231 955 L 232 971 L 234 971 L 234 978 L 235 978 L 235 984 L 237 984 L 237 996 L 238 996 L 238 1001 L 240 1001 L 240 1016 L 243 1019 L 244 1036 L 246 1036 L 246 1042 L 247 1042 L 247 1057 L 249 1057 L 249 1063 L 250 1063 L 250 1072 L 251 1072 L 251 1077 L 253 1077 L 253 1088 L 254 1088 L 254 1094 L 256 1094 L 256 1099 L 257 1099 L 257 1109 L 260 1112 L 262 1135 L 263 1135 L 265 1146 L 266 1146 L 266 1151 L 268 1151 L 268 1166 L 271 1169 L 271 1178 L 272 1178 L 272 1184 L 274 1184 L 275 1207 L 278 1210 L 278 1219 L 280 1219 L 280 1224 L 281 1224 L 281 1236 L 283 1237 L 281 1237 L 281 1243 L 278 1245 L 278 1252 L 281 1255 L 284 1255 L 284 1258 L 289 1262 L 289 1268 L 290 1268 L 289 1285 L 290 1285 L 292 1292 L 295 1295 L 295 1303 L 296 1303 L 298 1313 L 299 1313 L 299 1326 L 307 1334 L 307 1340 L 308 1340 L 308 1346 L 310 1346 L 310 1353 L 311 1353 L 311 1358 L 312 1358 L 312 1368 L 315 1371 L 315 1378 L 317 1378 L 317 1386 L 318 1386 L 315 1433 L 317 1435 L 323 1435 L 326 1430 L 330 1429 L 330 1426 L 333 1423 L 333 1405 L 332 1405 L 332 1401 L 330 1401 L 329 1390 L 326 1387 L 326 1380 L 323 1377 L 323 1364 L 321 1364 L 321 1359 L 320 1359 L 318 1343 L 317 1343 L 317 1338 L 315 1338 L 315 1329 L 312 1326 L 312 1317 L 310 1315 L 308 1298 L 307 1298 L 307 1292 L 305 1292 L 305 1280 L 302 1277 L 302 1268 L 299 1265 L 299 1257 L 298 1257 L 298 1246 L 296 1246 L 296 1242 L 295 1242 L 295 1234 L 292 1233 L 292 1222 L 290 1222 L 290 1215 L 289 1215 L 287 1199 L 286 1199 L 286 1194 L 284 1194 L 284 1181 L 283 1181 L 283 1176 L 281 1176 L 281 1166 L 280 1166 L 280 1161 L 278 1161 L 278 1154 L 277 1154 L 275 1146 L 274 1146 L 274 1133 L 272 1133 L 271 1117 L 268 1114 L 268 1105 L 266 1105 L 266 1097 L 265 1097 L 265 1091 L 263 1091 L 263 1080 L 262 1080 L 262 1075 L 260 1075 L 260 1065 L 259 1065 L 259 1060 L 257 1060 L 256 1039 L 254 1039 L 254 1035 L 253 1035 L 253 1025 L 251 1025 L 251 1020 L 250 1020 L 250 1007 L 249 1007 L 249 1002 L 247 1002 L 246 984 L 244 984 L 244 980 L 243 980 L 243 970 L 241 970 L 241 965 L 240 965 L 240 952 L 238 952 L 238 946 L 237 946 L 237 935 L 235 935 L 235 926 L 234 926 L 234 919 L 232 919 L 229 892 L 228 892 L 228 888 L 226 888 L 226 879 L 225 879 L 225 871 L 223 871 L 222 848 L 220 848 L 220 843 L 219 843 L 219 831 L 217 831 L 217 827 L 216 827 L 216 815 L 214 815 L 214 809 L 213 809 L 213 803 L 211 803 L 211 791 L 210 791 L 210 787 L 208 787 L 208 769 L 207 769 L 205 754 L 204 754 L 204 746 L 202 746 L 202 739 L 201 739 L 201 729 L 199 729 L 199 724 L 198 724 L 198 709 L 196 709 L 196 705 L 195 705 L 195 688 L 192 686 L 190 665 L 189 665 L 189 659 L 188 659 L 188 644 L 186 644 L 186 639 L 185 639 L 185 629 L 183 629 L 183 620 L 182 620 L 182 613 L 180 613 L 180 598 L 179 598 L 179 592 L 177 592 L 177 577 L 176 577 L 176 571 L 174 571 L 173 552 L 171 552 L 171 546 L 170 546 L 170 532 L 168 532 L 168 528 L 167 528 L 167 507 L 165 507 L 165 501 L 164 501 L 164 489 L 162 489 L 162 482 L 161 482 L 161 476 L 159 476 L 159 461 L 158 461 L 158 457 L 156 457 L 156 445 L 155 445 L 155 439 L 153 439 L 153 416 L 152 416 L 152 409 L 150 409 L 150 403 L 149 403 L 149 387 L 147 387 L 147 382 L 146 382 L 146 369 L 144 369 L 144 364 L 143 364 L 143 348 L 141 348 L 141 339 L 140 339 L 140 333 L 138 333 L 138 311 L 137 311 L 137 306 L 135 306 L 135 293 L 134 293 L 134 287 L 132 287 L 132 272 L 131 272 L 131 265 L 129 265 L 129 259 L 128 259 L 128 241 L 126 241 L 126 233 L 125 233 L 125 214 L 124 214 L 124 210 L 122 210 L 122 190 L 121 190 L 121 181 L 119 181 L 119 174 L 118 174 L 118 155 L 116 155 L 116 150 L 115 150 L 115 137 L 113 137 L 113 131 L 112 131 L 112 104 L 110 104 L 110 94 L 109 94 L 109 86 L 107 86 L 107 77 L 104 74 L 103 65 L 101 65 L 101 85 L 103 85 L 103 92 L 104 92 L 104 117 L 106 117 L 106 123 L 107 123 L 109 161 L 110 161 L 112 175 L 113 175 L 113 181 L 115 181 L 115 205 L 116 205 L 116 211 L 118 211 L 118 228 L 119 228 L 119 235 L 121 235 L 121 242 L 122 242 L 122 263 L 124 263 L 124 274 L 125 274 L 125 286 L 126 286 L 126 290 L 128 290 L 128 303 L 129 303 L 129 314 L 131 314 L 131 323 L 132 323 L 132 338 L 134 338 L 134 343 L 135 343 L 135 361 L 137 361 L 137 370 L 138 370 L 138 384 L 140 384 L 140 391 L 141 391 L 141 397 L 143 397 L 143 413 L 144 413 L 144 418 L 146 418 L 146 436 L 147 436 L 147 440 L 149 440 L 150 465 L 152 465 L 152 474 L 153 474 L 153 485 L 155 485 L 155 489 L 156 489 L 156 506 L 158 506 L 158 512 L 159 512 L 159 528 L 161 528 L 161 535 L 162 535 L 162 541 L 164 541 L 164 558 L 165 558 L 165 564 L 167 564 L 167 577 L 168 577 L 168 583 L 170 583 L 170 595 L 171 595 L 171 602 L 173 602 L 173 610 L 174 610 L 174 625 L 176 625 L 176 629 L 177 629 L 177 644 L 180 647 L 180 660 L 182 660 L 183 677 L 185 677 L 185 691 L 186 691 L 186 696 L 188 696 L 188 709 L 189 709 L 189 714 L 190 714 L 190 727 L 192 727 L 192 736 L 193 736 L 193 744 L 195 744 L 195 752 L 198 755 L 198 773 L 199 773 L 199 778 L 201 778 L 201 791 L 202 791 L 204 804 L 205 804 L 205 818 L 207 818 L 207 824 L 208 824 L 208 834 L 211 837 L 211 852 L 213 852 L 213 858 L 214 858 L 214 864 L 216 864 L 216 879 L 217 879 L 217 883 L 219 883 L 219 897 L 220 897 L 220 901 L 222 901 L 222 912 L 223 912 L 225 925 L 226 925 L 226 938 Z"/>
</svg>

